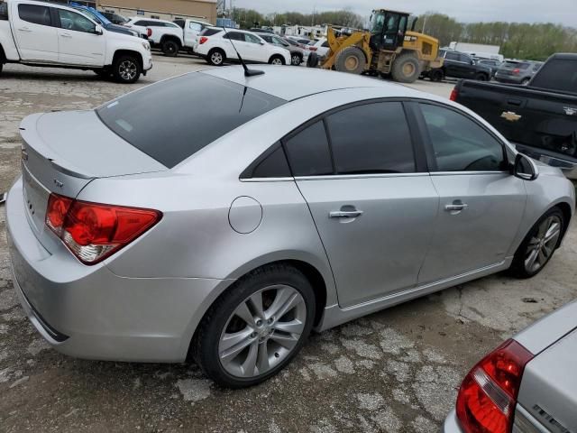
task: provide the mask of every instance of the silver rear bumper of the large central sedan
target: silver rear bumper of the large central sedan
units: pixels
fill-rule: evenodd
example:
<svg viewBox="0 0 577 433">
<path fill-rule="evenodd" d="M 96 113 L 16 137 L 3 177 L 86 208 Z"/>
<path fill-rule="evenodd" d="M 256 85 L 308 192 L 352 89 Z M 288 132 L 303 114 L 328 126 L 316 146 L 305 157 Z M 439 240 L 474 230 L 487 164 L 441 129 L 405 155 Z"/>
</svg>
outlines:
<svg viewBox="0 0 577 433">
<path fill-rule="evenodd" d="M 22 180 L 8 194 L 6 225 L 14 290 L 41 336 L 65 355 L 182 362 L 215 289 L 224 283 L 124 278 L 105 264 L 79 263 L 63 244 L 47 251 L 25 215 Z"/>
</svg>

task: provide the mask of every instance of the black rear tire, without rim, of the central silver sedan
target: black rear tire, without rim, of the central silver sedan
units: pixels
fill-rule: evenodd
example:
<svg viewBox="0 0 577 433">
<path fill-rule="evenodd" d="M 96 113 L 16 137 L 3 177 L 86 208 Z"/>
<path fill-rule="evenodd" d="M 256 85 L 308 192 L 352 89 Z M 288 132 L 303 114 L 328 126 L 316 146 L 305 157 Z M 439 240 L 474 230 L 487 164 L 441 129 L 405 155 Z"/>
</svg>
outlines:
<svg viewBox="0 0 577 433">
<path fill-rule="evenodd" d="M 234 376 L 225 370 L 219 357 L 221 336 L 226 327 L 230 326 L 229 318 L 235 318 L 234 311 L 253 294 L 279 284 L 297 290 L 304 299 L 307 317 L 298 343 L 279 364 L 270 368 L 267 373 L 250 378 Z M 266 308 L 266 305 L 263 304 L 263 309 Z M 197 327 L 197 333 L 191 343 L 191 353 L 206 376 L 221 386 L 238 389 L 256 385 L 279 373 L 298 354 L 313 327 L 315 311 L 315 294 L 310 281 L 302 272 L 285 264 L 270 264 L 261 267 L 236 281 L 229 290 L 226 290 L 220 298 L 216 299 Z M 265 344 L 268 345 L 269 343 Z M 240 355 L 243 353 L 239 353 Z"/>
</svg>

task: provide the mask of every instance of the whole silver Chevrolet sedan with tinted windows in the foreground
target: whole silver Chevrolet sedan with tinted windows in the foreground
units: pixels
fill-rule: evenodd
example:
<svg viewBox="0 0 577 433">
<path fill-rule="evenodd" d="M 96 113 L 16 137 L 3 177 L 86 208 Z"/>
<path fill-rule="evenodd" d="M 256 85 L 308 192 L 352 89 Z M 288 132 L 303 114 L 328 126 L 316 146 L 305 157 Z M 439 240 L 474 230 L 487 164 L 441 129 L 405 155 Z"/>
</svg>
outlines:
<svg viewBox="0 0 577 433">
<path fill-rule="evenodd" d="M 561 244 L 572 184 L 463 106 L 261 69 L 23 120 L 14 287 L 50 345 L 194 358 L 215 382 L 249 386 L 312 329 L 494 272 L 531 277 Z"/>
</svg>

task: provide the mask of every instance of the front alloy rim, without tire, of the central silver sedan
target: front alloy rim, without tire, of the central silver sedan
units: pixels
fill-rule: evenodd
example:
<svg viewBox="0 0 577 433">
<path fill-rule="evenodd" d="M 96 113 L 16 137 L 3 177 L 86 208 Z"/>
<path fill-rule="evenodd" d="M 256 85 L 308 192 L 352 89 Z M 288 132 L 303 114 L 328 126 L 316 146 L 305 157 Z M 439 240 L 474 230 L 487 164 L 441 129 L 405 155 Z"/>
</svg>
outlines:
<svg viewBox="0 0 577 433">
<path fill-rule="evenodd" d="M 545 218 L 539 225 L 536 234 L 527 244 L 525 255 L 527 272 L 536 272 L 549 261 L 559 241 L 561 227 L 561 219 L 555 215 Z"/>
</svg>

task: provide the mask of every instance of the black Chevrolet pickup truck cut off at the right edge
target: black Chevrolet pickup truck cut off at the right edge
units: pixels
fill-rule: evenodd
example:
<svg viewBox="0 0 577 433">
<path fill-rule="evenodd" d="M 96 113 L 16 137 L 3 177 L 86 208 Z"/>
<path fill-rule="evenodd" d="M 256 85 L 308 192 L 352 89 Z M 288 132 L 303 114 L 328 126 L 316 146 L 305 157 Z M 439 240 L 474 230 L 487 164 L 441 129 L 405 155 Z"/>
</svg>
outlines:
<svg viewBox="0 0 577 433">
<path fill-rule="evenodd" d="M 577 54 L 554 54 L 527 86 L 461 80 L 451 99 L 484 117 L 519 152 L 577 179 Z"/>
</svg>

